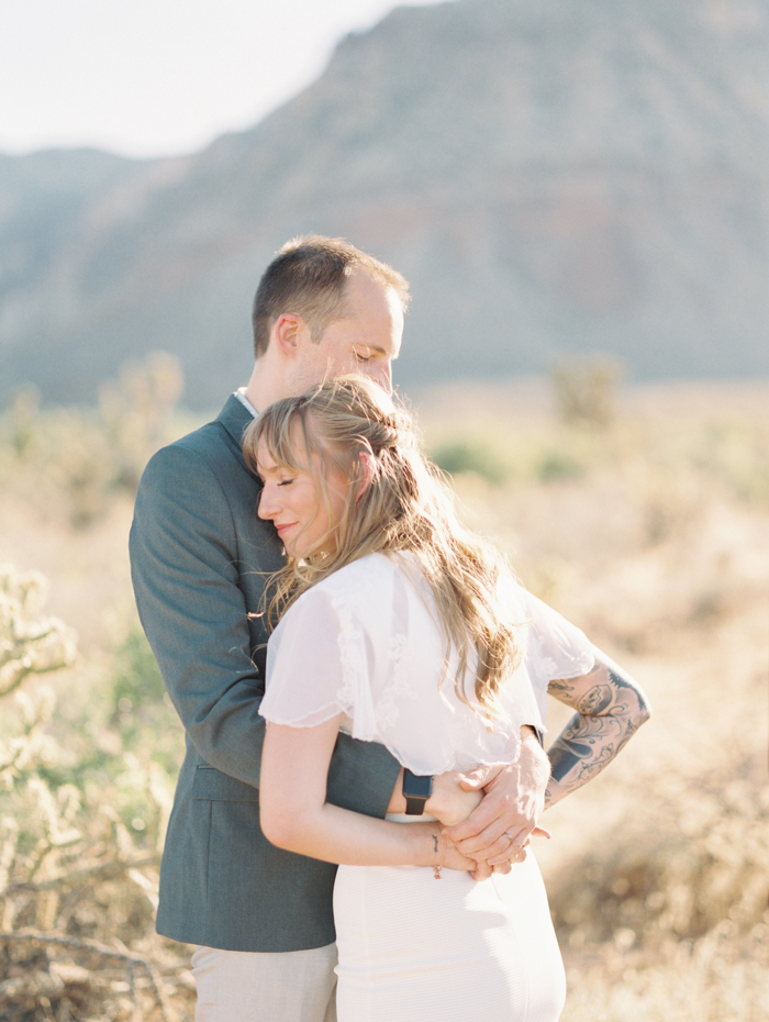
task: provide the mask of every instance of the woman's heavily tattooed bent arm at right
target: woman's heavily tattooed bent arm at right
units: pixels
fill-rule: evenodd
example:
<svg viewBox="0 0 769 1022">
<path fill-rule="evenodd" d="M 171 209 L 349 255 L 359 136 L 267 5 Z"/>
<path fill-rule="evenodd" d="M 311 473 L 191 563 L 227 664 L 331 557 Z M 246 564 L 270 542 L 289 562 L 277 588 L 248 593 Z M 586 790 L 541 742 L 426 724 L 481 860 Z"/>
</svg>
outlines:
<svg viewBox="0 0 769 1022">
<path fill-rule="evenodd" d="M 586 678 L 590 679 L 584 685 Z M 648 720 L 644 692 L 614 665 L 597 663 L 590 675 L 551 681 L 549 691 L 577 713 L 549 747 L 550 780 L 545 806 L 553 806 L 598 776 Z"/>
</svg>

